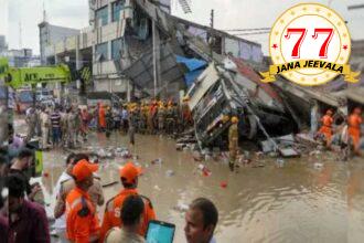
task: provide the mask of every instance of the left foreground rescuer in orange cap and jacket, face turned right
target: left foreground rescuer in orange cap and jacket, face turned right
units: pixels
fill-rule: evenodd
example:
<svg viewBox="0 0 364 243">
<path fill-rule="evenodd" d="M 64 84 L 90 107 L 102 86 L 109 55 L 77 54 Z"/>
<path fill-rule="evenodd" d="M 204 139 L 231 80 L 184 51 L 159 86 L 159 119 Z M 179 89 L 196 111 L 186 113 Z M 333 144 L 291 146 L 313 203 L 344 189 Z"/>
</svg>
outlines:
<svg viewBox="0 0 364 243">
<path fill-rule="evenodd" d="M 99 221 L 87 190 L 93 186 L 93 173 L 98 166 L 81 160 L 73 168 L 72 175 L 76 182 L 66 198 L 67 239 L 74 243 L 94 243 L 99 240 Z"/>
</svg>

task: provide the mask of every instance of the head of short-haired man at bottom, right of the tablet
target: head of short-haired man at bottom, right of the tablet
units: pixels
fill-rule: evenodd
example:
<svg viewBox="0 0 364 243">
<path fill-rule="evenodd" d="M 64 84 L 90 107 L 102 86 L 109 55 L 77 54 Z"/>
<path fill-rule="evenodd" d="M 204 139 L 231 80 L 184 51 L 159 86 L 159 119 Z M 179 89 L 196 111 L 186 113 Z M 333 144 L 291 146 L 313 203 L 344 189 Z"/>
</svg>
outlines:
<svg viewBox="0 0 364 243">
<path fill-rule="evenodd" d="M 205 198 L 195 199 L 185 213 L 184 234 L 188 243 L 216 243 L 214 231 L 218 212 L 212 201 Z"/>
</svg>

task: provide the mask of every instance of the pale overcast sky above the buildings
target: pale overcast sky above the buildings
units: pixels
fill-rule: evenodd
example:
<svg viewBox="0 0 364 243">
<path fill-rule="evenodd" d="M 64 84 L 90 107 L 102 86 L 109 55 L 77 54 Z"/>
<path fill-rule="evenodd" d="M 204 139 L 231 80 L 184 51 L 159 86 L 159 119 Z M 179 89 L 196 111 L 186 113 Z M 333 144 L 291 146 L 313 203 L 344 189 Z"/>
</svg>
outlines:
<svg viewBox="0 0 364 243">
<path fill-rule="evenodd" d="M 275 20 L 289 7 L 301 0 L 188 0 L 192 13 L 184 14 L 178 0 L 172 0 L 172 14 L 204 25 L 210 24 L 211 9 L 215 10 L 215 28 L 254 29 L 271 28 Z M 347 6 L 364 0 L 319 0 L 330 4 L 346 21 L 352 39 L 364 39 L 364 9 L 347 10 Z M 206 8 L 207 7 L 207 8 Z M 39 28 L 43 10 L 51 24 L 82 29 L 88 25 L 88 0 L 0 0 L 0 34 L 7 35 L 10 49 L 30 47 L 39 53 Z M 269 34 L 246 35 L 244 39 L 261 43 L 268 53 Z"/>
</svg>

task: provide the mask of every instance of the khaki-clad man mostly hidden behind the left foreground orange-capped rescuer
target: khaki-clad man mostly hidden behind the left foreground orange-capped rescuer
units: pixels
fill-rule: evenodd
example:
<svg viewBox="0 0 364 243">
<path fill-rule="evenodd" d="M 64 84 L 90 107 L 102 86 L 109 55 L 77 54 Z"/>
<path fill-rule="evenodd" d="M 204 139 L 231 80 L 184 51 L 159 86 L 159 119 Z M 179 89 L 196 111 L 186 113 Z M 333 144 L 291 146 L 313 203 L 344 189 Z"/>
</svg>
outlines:
<svg viewBox="0 0 364 243">
<path fill-rule="evenodd" d="M 88 157 L 83 154 L 76 155 L 74 158 L 74 161 L 67 166 L 66 173 L 72 176 L 73 168 L 82 160 L 88 161 Z M 60 192 L 56 192 L 58 194 L 57 194 L 55 207 L 54 207 L 55 219 L 58 219 L 60 216 L 62 216 L 64 214 L 65 209 L 66 209 L 66 205 L 65 205 L 66 197 L 74 188 L 76 188 L 76 183 L 75 183 L 75 180 L 73 177 L 61 182 Z M 90 188 L 88 189 L 87 192 L 89 194 L 92 203 L 95 207 L 97 207 L 97 205 L 100 207 L 104 204 L 105 199 L 104 199 L 104 192 L 103 192 L 100 178 L 94 176 L 93 184 L 90 186 Z"/>
</svg>

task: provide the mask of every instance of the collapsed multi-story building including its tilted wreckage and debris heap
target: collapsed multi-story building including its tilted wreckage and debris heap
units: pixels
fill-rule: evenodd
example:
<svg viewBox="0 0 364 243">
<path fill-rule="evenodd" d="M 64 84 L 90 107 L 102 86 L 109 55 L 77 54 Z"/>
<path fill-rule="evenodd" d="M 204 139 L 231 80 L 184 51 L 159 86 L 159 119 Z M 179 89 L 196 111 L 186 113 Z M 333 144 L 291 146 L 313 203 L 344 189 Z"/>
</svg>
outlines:
<svg viewBox="0 0 364 243">
<path fill-rule="evenodd" d="M 90 27 L 45 46 L 46 60 L 68 60 L 75 70 L 88 66 L 94 91 L 128 101 L 181 101 L 188 91 L 201 146 L 226 141 L 227 117 L 233 115 L 240 118 L 242 136 L 271 139 L 311 126 L 318 103 L 322 110 L 345 113 L 349 96 L 361 98 L 354 92 L 334 95 L 283 78 L 261 83 L 258 71 L 269 62 L 260 44 L 173 17 L 168 0 L 90 0 L 89 8 Z"/>
</svg>

